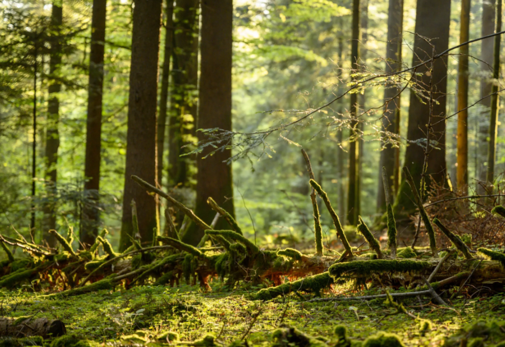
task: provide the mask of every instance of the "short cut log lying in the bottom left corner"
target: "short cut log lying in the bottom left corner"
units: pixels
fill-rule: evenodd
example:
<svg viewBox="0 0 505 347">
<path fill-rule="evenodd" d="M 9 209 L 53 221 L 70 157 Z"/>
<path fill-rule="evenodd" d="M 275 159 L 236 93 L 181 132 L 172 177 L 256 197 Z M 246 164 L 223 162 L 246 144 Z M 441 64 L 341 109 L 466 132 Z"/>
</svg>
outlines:
<svg viewBox="0 0 505 347">
<path fill-rule="evenodd" d="M 66 334 L 65 324 L 59 319 L 49 318 L 0 318 L 0 336 L 41 336 L 43 339 Z"/>
</svg>

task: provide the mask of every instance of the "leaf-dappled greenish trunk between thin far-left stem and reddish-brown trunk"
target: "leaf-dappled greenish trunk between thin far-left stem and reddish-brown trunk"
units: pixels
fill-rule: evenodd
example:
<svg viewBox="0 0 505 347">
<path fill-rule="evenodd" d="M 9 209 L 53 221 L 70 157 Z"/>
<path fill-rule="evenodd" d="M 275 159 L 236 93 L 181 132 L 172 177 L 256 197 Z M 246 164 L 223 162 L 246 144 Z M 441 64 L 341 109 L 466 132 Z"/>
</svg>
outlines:
<svg viewBox="0 0 505 347">
<path fill-rule="evenodd" d="M 45 176 L 46 192 L 49 202 L 44 206 L 44 222 L 42 235 L 50 246 L 56 245 L 54 237 L 48 233 L 51 229 L 56 229 L 56 180 L 58 163 L 58 147 L 60 138 L 58 133 L 60 102 L 57 93 L 61 90 L 61 84 L 56 82 L 58 69 L 61 64 L 61 44 L 59 43 L 58 30 L 63 21 L 62 5 L 53 3 L 51 10 L 51 54 L 49 58 L 49 73 L 51 82 L 49 85 L 49 101 L 47 102 L 47 129 L 45 141 Z"/>
</svg>

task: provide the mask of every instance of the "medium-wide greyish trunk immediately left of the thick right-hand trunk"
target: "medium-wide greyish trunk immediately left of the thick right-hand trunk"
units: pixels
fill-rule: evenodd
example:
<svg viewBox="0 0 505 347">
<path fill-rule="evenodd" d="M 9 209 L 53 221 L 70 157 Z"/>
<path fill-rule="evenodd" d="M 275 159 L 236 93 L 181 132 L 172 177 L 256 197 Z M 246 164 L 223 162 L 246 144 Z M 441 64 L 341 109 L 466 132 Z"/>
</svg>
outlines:
<svg viewBox="0 0 505 347">
<path fill-rule="evenodd" d="M 388 42 L 386 44 L 386 72 L 392 73 L 401 68 L 401 43 L 403 33 L 403 0 L 389 0 L 388 11 Z M 383 136 L 389 137 L 387 133 L 398 135 L 400 133 L 400 95 L 396 96 L 400 91 L 399 86 L 390 83 L 384 88 L 384 101 L 387 102 L 384 106 L 384 116 L 382 117 L 382 132 Z M 395 97 L 396 96 L 396 97 Z M 399 173 L 399 156 L 398 147 L 394 147 L 387 143 L 383 145 L 383 150 L 380 152 L 379 172 L 382 172 L 382 167 L 386 168 L 388 173 L 388 182 L 391 192 L 396 192 L 398 189 L 397 180 Z M 384 195 L 384 187 L 382 176 L 379 173 L 379 190 L 377 191 L 377 211 L 383 213 L 386 211 L 386 196 Z"/>
</svg>

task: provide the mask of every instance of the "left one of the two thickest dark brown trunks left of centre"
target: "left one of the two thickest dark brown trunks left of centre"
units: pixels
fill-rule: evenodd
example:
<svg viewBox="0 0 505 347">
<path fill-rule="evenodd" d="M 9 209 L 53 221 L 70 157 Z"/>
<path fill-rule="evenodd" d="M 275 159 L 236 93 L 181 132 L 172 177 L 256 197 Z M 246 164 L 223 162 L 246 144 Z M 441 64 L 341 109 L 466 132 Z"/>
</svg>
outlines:
<svg viewBox="0 0 505 347">
<path fill-rule="evenodd" d="M 125 189 L 119 250 L 125 250 L 132 235 L 132 209 L 135 200 L 141 242 L 151 242 L 156 227 L 154 197 L 136 184 L 136 175 L 150 184 L 156 181 L 156 99 L 161 27 L 161 0 L 135 0 L 133 9 L 130 95 L 128 98 L 128 132 Z"/>
</svg>

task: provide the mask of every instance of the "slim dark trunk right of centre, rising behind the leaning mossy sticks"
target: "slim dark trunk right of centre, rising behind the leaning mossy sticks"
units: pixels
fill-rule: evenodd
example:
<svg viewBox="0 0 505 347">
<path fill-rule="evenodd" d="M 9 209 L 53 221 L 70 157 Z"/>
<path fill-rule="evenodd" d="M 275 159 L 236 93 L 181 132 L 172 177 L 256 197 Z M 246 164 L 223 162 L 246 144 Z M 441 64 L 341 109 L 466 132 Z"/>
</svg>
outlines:
<svg viewBox="0 0 505 347">
<path fill-rule="evenodd" d="M 359 59 L 359 0 L 353 0 L 352 2 L 352 38 L 351 38 L 351 69 L 352 71 L 357 70 L 357 62 Z M 351 94 L 351 130 L 350 130 L 350 143 L 349 143 L 349 188 L 347 193 L 347 220 L 350 225 L 357 224 L 357 211 L 356 211 L 356 190 L 357 190 L 357 178 L 358 172 L 358 160 L 357 156 L 359 154 L 359 141 L 356 141 L 356 129 L 358 127 L 358 100 L 357 94 Z"/>
</svg>

